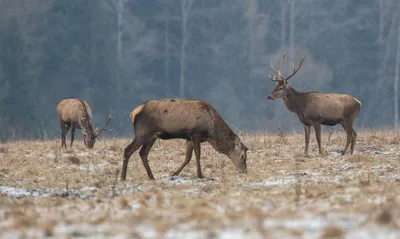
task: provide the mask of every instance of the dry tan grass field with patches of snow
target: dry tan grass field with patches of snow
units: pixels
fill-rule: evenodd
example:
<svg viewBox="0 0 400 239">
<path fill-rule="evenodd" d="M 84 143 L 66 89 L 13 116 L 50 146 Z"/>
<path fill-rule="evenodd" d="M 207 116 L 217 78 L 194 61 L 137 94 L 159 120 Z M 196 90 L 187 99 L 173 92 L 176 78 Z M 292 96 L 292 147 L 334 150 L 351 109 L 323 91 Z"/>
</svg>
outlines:
<svg viewBox="0 0 400 239">
<path fill-rule="evenodd" d="M 242 135 L 248 173 L 202 144 L 198 179 L 182 140 L 157 141 L 156 178 L 139 155 L 119 180 L 130 139 L 0 145 L 2 238 L 400 238 L 400 135 L 359 132 L 354 155 L 341 156 L 345 135 Z"/>
</svg>

